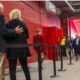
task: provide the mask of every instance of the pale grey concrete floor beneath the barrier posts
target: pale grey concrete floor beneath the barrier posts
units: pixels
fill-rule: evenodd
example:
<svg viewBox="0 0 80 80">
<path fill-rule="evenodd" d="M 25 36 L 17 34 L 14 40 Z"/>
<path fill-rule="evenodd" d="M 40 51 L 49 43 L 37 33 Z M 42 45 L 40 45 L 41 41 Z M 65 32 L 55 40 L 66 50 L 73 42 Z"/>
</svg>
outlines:
<svg viewBox="0 0 80 80">
<path fill-rule="evenodd" d="M 73 60 L 73 65 L 68 65 L 69 60 L 64 60 L 64 69 L 66 71 L 60 72 L 58 69 L 60 68 L 60 61 L 57 61 L 57 76 L 55 78 L 51 78 L 50 76 L 53 74 L 53 64 L 52 61 L 45 60 L 43 63 L 43 80 L 80 80 L 80 59 L 79 61 Z M 32 80 L 38 79 L 38 68 L 37 62 L 29 64 L 30 74 Z M 18 68 L 17 72 L 17 80 L 25 80 L 24 73 L 21 68 Z M 6 71 L 6 74 L 8 71 Z M 10 80 L 9 75 L 5 75 L 5 80 Z"/>
</svg>

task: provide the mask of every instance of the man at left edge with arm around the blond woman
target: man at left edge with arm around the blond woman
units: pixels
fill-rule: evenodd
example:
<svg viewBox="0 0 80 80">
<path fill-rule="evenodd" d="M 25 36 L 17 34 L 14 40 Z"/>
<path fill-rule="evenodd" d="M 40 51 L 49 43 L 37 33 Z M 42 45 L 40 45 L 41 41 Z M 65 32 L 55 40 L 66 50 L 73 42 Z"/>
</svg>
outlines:
<svg viewBox="0 0 80 80">
<path fill-rule="evenodd" d="M 14 36 L 16 34 L 21 34 L 23 32 L 22 28 L 17 26 L 15 29 L 7 29 L 5 24 L 5 18 L 3 15 L 3 5 L 0 3 L 0 44 L 6 45 L 4 36 Z M 4 53 L 6 49 L 0 47 L 0 80 L 4 80 L 3 72 L 3 62 L 4 62 Z"/>
</svg>

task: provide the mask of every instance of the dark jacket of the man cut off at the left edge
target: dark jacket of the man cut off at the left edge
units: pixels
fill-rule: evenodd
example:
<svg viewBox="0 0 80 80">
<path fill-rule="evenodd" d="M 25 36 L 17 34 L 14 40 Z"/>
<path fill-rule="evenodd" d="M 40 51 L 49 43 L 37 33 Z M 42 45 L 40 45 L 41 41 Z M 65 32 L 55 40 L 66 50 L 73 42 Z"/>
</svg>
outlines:
<svg viewBox="0 0 80 80">
<path fill-rule="evenodd" d="M 16 35 L 16 32 L 14 29 L 7 29 L 5 24 L 5 18 L 3 15 L 0 15 L 0 44 L 6 45 L 5 36 L 12 36 Z M 6 48 L 3 48 L 0 46 L 0 52 L 5 52 Z"/>
</svg>

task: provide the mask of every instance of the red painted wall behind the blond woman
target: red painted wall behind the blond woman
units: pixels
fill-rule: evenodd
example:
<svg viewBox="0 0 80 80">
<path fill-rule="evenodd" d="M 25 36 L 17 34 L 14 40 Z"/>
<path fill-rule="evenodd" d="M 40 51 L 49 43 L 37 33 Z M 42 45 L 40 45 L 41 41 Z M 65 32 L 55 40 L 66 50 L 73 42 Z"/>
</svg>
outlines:
<svg viewBox="0 0 80 80">
<path fill-rule="evenodd" d="M 9 12 L 12 9 L 18 8 L 22 12 L 22 19 L 26 23 L 29 29 L 29 40 L 28 43 L 33 43 L 33 35 L 35 34 L 35 30 L 38 27 L 45 26 L 60 26 L 60 20 L 56 17 L 55 14 L 46 14 L 44 5 L 42 6 L 40 1 L 26 1 L 25 3 L 20 1 L 3 1 L 4 5 L 4 15 L 6 18 L 6 22 L 9 21 Z M 28 59 L 29 62 L 33 62 L 37 60 L 37 55 L 32 47 L 30 47 L 30 51 L 32 56 Z M 7 64 L 6 64 L 7 66 Z"/>
</svg>

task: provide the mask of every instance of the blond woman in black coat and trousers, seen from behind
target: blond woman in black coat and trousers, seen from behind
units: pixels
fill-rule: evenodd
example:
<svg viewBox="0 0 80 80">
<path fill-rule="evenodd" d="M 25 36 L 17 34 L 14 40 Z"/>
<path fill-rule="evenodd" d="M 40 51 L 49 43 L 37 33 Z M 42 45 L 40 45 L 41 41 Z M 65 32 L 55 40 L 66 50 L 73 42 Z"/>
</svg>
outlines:
<svg viewBox="0 0 80 80">
<path fill-rule="evenodd" d="M 15 29 L 16 26 L 23 28 L 22 34 L 9 37 L 7 39 L 9 44 L 27 44 L 29 38 L 28 28 L 21 19 L 21 11 L 19 9 L 13 9 L 9 14 L 10 21 L 7 23 L 8 29 Z M 28 47 L 23 48 L 8 48 L 7 58 L 9 61 L 10 80 L 16 80 L 16 63 L 19 60 L 26 80 L 31 80 L 30 72 L 27 63 L 27 57 L 31 56 Z"/>
</svg>

